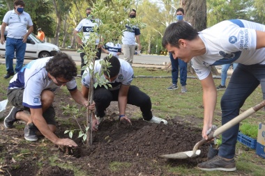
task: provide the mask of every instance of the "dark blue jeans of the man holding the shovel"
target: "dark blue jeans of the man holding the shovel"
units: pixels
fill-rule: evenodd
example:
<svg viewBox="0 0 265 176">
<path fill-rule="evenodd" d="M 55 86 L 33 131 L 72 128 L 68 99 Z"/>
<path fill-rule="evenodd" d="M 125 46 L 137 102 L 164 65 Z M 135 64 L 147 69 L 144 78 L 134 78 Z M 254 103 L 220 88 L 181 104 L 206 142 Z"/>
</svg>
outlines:
<svg viewBox="0 0 265 176">
<path fill-rule="evenodd" d="M 239 109 L 243 106 L 245 99 L 259 84 L 262 86 L 263 99 L 265 99 L 265 65 L 239 64 L 236 67 L 221 99 L 222 125 L 239 115 Z M 222 134 L 222 145 L 218 152 L 221 157 L 227 159 L 234 157 L 238 133 L 239 124 Z"/>
</svg>

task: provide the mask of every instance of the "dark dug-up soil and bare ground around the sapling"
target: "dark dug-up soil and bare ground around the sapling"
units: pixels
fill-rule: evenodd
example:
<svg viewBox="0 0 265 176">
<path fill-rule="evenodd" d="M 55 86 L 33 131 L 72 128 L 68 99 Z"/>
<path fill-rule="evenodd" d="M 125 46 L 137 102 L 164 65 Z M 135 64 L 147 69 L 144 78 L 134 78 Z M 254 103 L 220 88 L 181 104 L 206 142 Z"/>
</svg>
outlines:
<svg viewBox="0 0 265 176">
<path fill-rule="evenodd" d="M 56 110 L 56 135 L 68 138 L 64 134 L 68 127 L 68 115 L 63 115 L 61 104 L 75 104 L 69 95 L 58 91 L 54 101 Z M 81 106 L 77 106 L 81 109 Z M 10 106 L 8 106 L 10 109 Z M 84 113 L 81 111 L 80 113 Z M 93 133 L 93 146 L 87 147 L 77 134 L 73 139 L 79 147 L 65 154 L 47 139 L 40 137 L 38 142 L 24 140 L 23 125 L 15 129 L 4 129 L 3 119 L 0 127 L 0 175 L 174 175 L 168 173 L 167 166 L 185 166 L 194 168 L 197 163 L 206 160 L 208 145 L 200 147 L 202 154 L 193 159 L 167 160 L 158 157 L 192 150 L 201 140 L 201 129 L 191 127 L 182 118 L 168 120 L 169 124 L 152 124 L 133 119 L 132 125 L 121 123 L 117 119 L 118 106 L 112 103 L 107 109 L 107 118 L 100 123 L 99 131 Z M 128 106 L 126 114 L 140 113 L 136 106 Z M 182 120 L 181 120 L 182 119 Z M 78 118 L 84 122 L 84 116 Z M 189 118 L 188 121 L 192 120 Z M 21 127 L 20 127 L 21 126 Z M 73 127 L 77 128 L 75 123 Z"/>
</svg>

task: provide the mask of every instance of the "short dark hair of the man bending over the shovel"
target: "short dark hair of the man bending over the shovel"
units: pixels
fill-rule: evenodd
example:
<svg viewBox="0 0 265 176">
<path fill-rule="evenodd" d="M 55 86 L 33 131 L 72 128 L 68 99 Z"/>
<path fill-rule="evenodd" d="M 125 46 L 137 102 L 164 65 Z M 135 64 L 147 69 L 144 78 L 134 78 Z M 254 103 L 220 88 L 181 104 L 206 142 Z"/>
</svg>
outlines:
<svg viewBox="0 0 265 176">
<path fill-rule="evenodd" d="M 162 46 L 172 45 L 179 48 L 179 39 L 193 40 L 197 37 L 198 32 L 190 24 L 184 21 L 174 22 L 167 26 L 162 38 Z"/>
</svg>

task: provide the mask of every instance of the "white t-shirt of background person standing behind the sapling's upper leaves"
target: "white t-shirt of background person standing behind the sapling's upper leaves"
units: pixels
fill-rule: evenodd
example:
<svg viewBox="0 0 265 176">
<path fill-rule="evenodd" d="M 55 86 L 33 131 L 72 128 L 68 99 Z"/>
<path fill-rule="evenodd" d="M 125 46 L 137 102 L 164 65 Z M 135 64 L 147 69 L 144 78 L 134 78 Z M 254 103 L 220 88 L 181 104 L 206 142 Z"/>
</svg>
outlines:
<svg viewBox="0 0 265 176">
<path fill-rule="evenodd" d="M 93 19 L 93 22 L 91 22 L 91 19 L 84 18 L 81 20 L 81 22 L 79 22 L 79 24 L 75 28 L 75 31 L 80 32 L 83 30 L 84 40 L 82 40 L 82 42 L 86 43 L 86 41 L 89 39 L 90 33 L 95 32 L 93 29 L 94 26 L 99 26 L 100 24 L 101 24 L 100 19 Z M 96 39 L 96 45 L 98 45 L 99 41 L 100 41 L 100 39 L 97 38 Z"/>
</svg>

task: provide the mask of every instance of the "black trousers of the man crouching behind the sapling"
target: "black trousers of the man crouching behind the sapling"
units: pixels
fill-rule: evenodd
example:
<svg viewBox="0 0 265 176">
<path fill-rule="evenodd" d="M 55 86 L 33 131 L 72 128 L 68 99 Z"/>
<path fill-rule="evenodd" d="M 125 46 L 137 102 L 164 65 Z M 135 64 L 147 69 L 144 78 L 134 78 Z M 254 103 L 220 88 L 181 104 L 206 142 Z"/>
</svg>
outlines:
<svg viewBox="0 0 265 176">
<path fill-rule="evenodd" d="M 118 101 L 119 89 L 118 90 L 107 90 L 104 87 L 98 87 L 94 90 L 94 102 L 96 103 L 96 115 L 103 118 L 105 110 L 109 106 L 110 102 Z M 127 104 L 138 106 L 141 111 L 144 120 L 151 120 L 153 117 L 151 108 L 151 99 L 146 93 L 143 93 L 136 86 L 130 86 L 128 90 L 128 101 Z"/>
</svg>

